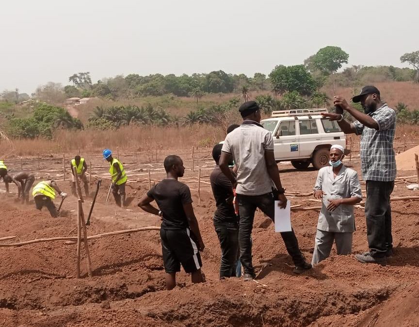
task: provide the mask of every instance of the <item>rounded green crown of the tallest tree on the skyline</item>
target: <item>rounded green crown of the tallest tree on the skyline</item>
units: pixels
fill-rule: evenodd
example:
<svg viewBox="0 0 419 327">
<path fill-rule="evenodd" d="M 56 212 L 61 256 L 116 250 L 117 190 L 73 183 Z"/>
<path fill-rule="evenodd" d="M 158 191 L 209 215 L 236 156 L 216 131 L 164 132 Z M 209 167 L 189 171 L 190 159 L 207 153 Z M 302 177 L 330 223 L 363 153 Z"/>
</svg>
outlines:
<svg viewBox="0 0 419 327">
<path fill-rule="evenodd" d="M 314 68 L 328 75 L 336 72 L 343 63 L 348 63 L 348 58 L 349 54 L 340 47 L 327 46 L 317 51 L 311 62 Z"/>
</svg>

